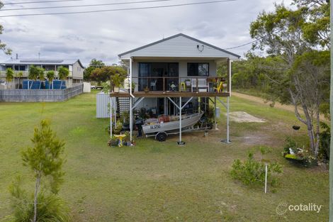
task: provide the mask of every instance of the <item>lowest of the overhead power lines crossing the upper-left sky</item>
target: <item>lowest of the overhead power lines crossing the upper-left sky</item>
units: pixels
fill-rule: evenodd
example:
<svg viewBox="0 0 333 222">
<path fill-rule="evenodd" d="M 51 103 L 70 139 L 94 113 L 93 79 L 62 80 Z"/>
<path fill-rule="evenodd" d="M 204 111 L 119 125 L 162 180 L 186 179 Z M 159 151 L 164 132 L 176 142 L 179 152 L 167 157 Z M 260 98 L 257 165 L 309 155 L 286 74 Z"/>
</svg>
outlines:
<svg viewBox="0 0 333 222">
<path fill-rule="evenodd" d="M 191 6 L 191 5 L 198 5 L 198 4 L 213 4 L 213 3 L 225 2 L 225 1 L 237 1 L 237 0 L 203 1 L 203 2 L 187 3 L 187 4 L 175 4 L 175 5 L 166 5 L 166 6 L 147 6 L 147 7 L 138 7 L 138 8 L 128 8 L 128 9 L 104 9 L 104 10 L 94 10 L 94 11 L 16 14 L 16 15 L 0 16 L 0 18 L 17 17 L 17 16 L 48 16 L 48 15 L 64 15 L 64 14 L 79 14 L 79 13 L 96 13 L 96 12 L 104 12 L 104 11 L 131 11 L 131 10 L 141 10 L 141 9 L 158 9 L 158 8 L 171 8 L 171 7 L 178 7 L 178 6 Z"/>
</svg>

